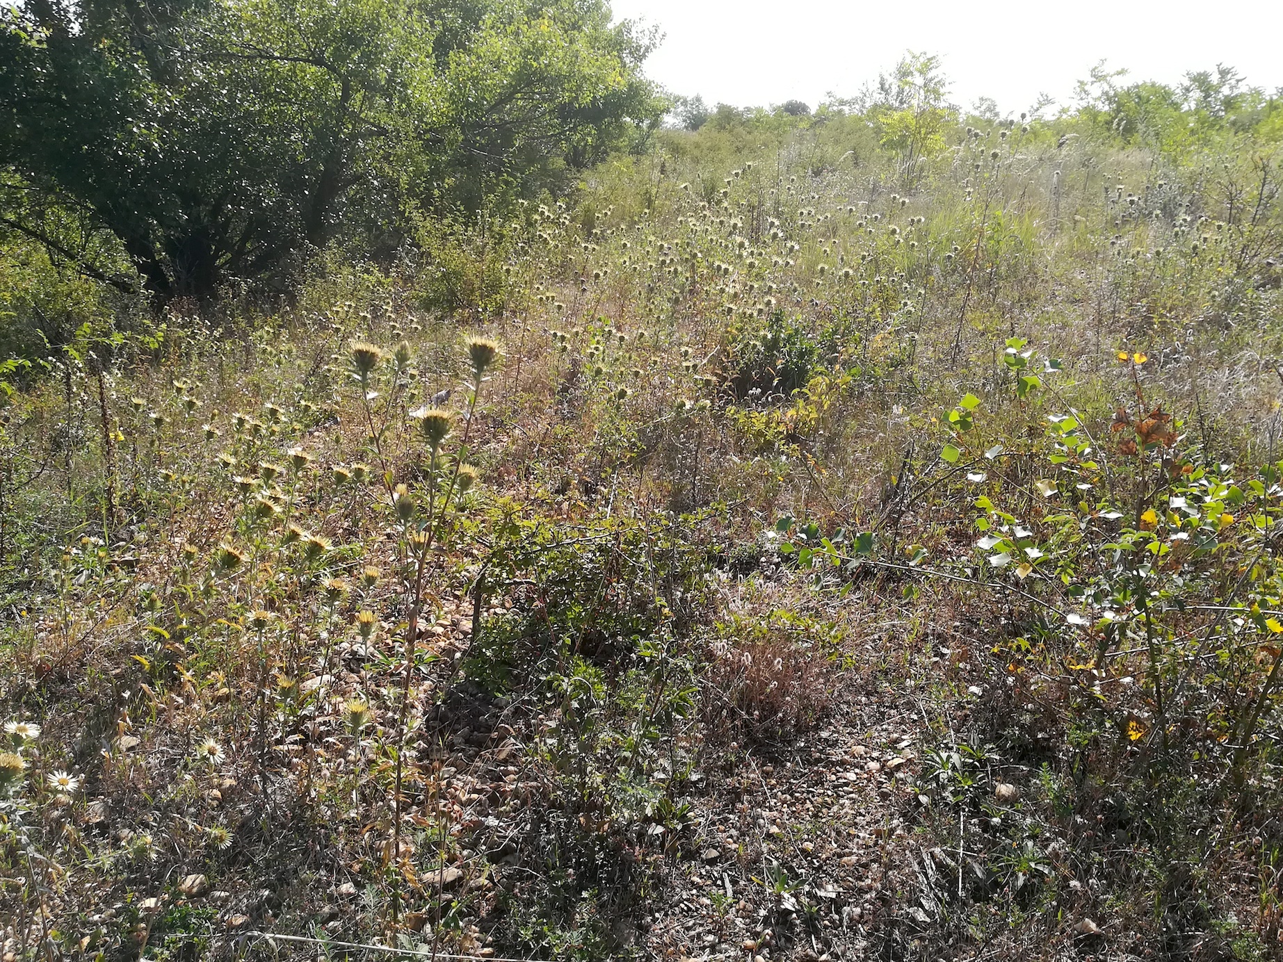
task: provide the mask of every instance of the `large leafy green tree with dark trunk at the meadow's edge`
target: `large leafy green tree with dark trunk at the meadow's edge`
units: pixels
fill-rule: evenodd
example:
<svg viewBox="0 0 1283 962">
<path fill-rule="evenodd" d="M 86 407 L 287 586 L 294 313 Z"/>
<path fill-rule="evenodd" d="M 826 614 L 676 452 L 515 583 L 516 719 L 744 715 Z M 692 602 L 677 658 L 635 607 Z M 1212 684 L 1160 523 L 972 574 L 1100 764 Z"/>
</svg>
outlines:
<svg viewBox="0 0 1283 962">
<path fill-rule="evenodd" d="M 0 223 L 128 286 L 56 209 L 205 298 L 595 163 L 662 113 L 648 51 L 604 0 L 27 0 L 0 12 Z"/>
</svg>

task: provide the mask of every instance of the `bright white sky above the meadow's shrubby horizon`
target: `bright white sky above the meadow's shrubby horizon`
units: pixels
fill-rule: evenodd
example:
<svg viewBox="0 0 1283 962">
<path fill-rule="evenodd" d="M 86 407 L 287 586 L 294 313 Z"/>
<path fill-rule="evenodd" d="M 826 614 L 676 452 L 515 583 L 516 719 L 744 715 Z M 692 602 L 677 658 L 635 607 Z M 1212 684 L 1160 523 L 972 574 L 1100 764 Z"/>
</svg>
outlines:
<svg viewBox="0 0 1283 962">
<path fill-rule="evenodd" d="M 675 94 L 739 106 L 858 92 L 908 50 L 939 54 L 949 99 L 1020 113 L 1067 103 L 1101 59 L 1135 80 L 1237 67 L 1283 87 L 1283 0 L 612 0 L 665 33 L 647 72 Z"/>
</svg>

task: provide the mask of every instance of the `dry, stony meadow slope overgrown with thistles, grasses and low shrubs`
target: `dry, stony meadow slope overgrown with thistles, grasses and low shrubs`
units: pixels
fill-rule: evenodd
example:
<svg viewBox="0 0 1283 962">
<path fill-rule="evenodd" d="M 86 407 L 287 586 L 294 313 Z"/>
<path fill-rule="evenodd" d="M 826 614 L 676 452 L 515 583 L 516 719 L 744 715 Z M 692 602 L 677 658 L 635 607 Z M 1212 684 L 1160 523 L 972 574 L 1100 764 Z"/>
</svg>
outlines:
<svg viewBox="0 0 1283 962">
<path fill-rule="evenodd" d="M 915 90 L 13 240 L 4 961 L 1278 958 L 1283 108 Z"/>
</svg>

